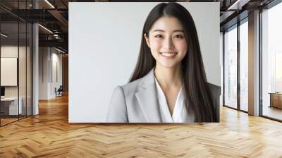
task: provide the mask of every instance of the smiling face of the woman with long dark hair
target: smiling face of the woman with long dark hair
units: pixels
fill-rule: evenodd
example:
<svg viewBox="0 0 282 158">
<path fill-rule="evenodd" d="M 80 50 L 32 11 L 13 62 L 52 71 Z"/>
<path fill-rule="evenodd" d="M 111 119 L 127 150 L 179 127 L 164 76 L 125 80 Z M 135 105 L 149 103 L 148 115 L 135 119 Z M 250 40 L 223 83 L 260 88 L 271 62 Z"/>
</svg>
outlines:
<svg viewBox="0 0 282 158">
<path fill-rule="evenodd" d="M 149 30 L 149 37 L 144 37 L 158 66 L 178 66 L 187 53 L 184 28 L 173 16 L 159 18 Z"/>
</svg>

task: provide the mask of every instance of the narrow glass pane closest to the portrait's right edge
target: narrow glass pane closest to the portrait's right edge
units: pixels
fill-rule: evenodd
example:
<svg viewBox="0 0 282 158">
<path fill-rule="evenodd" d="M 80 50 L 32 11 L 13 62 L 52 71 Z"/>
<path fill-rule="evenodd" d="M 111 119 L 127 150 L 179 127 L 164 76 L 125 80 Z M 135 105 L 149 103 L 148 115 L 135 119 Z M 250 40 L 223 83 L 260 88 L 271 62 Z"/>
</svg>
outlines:
<svg viewBox="0 0 282 158">
<path fill-rule="evenodd" d="M 237 27 L 224 36 L 224 104 L 237 109 Z"/>
</svg>

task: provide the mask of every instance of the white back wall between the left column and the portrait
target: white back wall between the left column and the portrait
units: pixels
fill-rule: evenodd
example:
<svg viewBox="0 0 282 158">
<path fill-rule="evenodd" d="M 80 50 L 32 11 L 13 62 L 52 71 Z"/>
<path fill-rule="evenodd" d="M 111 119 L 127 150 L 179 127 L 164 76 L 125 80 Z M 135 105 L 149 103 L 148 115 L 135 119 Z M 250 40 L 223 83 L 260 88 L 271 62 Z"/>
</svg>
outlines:
<svg viewBox="0 0 282 158">
<path fill-rule="evenodd" d="M 57 64 L 56 69 L 54 63 Z M 54 73 L 58 74 L 58 80 Z M 62 85 L 62 55 L 51 47 L 39 47 L 39 99 L 56 97 L 55 87 L 59 88 L 60 85 Z"/>
</svg>

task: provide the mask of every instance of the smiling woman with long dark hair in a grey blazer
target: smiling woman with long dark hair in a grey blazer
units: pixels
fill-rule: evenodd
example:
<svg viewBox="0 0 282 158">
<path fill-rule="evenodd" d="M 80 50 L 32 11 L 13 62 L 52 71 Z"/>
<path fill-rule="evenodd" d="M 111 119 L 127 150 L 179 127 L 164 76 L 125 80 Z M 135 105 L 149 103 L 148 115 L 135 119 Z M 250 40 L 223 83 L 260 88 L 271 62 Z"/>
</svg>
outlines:
<svg viewBox="0 0 282 158">
<path fill-rule="evenodd" d="M 107 122 L 218 122 L 219 91 L 207 83 L 189 11 L 161 3 L 147 16 L 135 71 L 114 89 Z"/>
</svg>

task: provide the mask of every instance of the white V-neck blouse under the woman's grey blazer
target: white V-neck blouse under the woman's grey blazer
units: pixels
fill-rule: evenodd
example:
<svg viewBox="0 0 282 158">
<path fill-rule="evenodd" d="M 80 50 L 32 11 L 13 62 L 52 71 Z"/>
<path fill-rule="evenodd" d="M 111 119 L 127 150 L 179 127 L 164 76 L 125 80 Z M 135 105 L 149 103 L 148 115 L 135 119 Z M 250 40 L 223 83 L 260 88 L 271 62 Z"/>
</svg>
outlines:
<svg viewBox="0 0 282 158">
<path fill-rule="evenodd" d="M 183 86 L 178 92 L 176 103 L 173 109 L 173 114 L 168 109 L 168 104 L 166 102 L 166 95 L 164 91 L 161 90 L 156 78 L 154 78 L 157 87 L 157 97 L 159 101 L 159 110 L 161 111 L 161 119 L 165 123 L 193 123 L 194 116 L 189 116 L 185 106 L 185 100 L 183 95 Z"/>
</svg>

